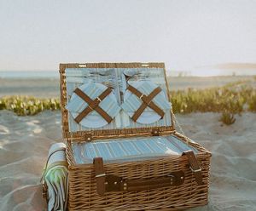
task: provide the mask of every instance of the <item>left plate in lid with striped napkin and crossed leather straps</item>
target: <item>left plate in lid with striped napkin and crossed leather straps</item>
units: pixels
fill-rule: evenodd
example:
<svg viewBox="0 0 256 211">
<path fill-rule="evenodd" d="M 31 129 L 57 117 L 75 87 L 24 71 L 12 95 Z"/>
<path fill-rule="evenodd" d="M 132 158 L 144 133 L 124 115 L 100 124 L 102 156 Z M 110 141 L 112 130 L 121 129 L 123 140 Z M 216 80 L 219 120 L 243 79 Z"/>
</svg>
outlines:
<svg viewBox="0 0 256 211">
<path fill-rule="evenodd" d="M 74 123 L 100 128 L 111 123 L 121 108 L 111 88 L 101 83 L 84 83 L 73 90 L 66 109 Z"/>
</svg>

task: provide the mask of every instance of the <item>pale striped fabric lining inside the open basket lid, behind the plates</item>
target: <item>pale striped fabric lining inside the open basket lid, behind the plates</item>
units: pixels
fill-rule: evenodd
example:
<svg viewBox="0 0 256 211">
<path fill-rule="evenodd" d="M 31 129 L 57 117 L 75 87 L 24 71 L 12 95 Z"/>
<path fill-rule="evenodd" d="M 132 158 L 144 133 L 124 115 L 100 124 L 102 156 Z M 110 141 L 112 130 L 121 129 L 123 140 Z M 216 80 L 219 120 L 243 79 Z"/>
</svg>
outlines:
<svg viewBox="0 0 256 211">
<path fill-rule="evenodd" d="M 131 68 L 132 70 L 134 68 Z M 124 102 L 125 90 L 127 86 L 131 83 L 137 83 L 138 81 L 148 81 L 154 83 L 156 86 L 159 86 L 165 98 L 168 98 L 168 92 L 166 89 L 166 80 L 165 80 L 165 71 L 163 68 L 135 68 L 136 71 L 139 71 L 140 74 L 137 77 L 131 77 L 127 82 L 125 80 L 124 71 L 127 68 L 67 68 L 66 69 L 66 81 L 67 81 L 67 104 L 70 102 L 73 91 L 76 88 L 79 88 L 84 83 L 101 83 L 105 86 L 113 88 L 113 95 L 117 100 L 119 106 Z M 149 109 L 147 109 L 149 110 Z M 162 127 L 162 126 L 171 126 L 172 125 L 172 116 L 171 112 L 166 111 L 165 116 L 162 119 L 152 123 L 148 123 L 148 119 L 153 119 L 152 116 L 157 116 L 154 111 L 151 112 L 143 112 L 143 117 L 145 123 L 134 122 L 131 119 L 131 115 L 128 116 L 126 111 L 119 111 L 119 114 L 115 116 L 113 121 L 109 124 L 98 124 L 91 125 L 91 123 L 76 123 L 73 118 L 73 114 L 68 112 L 68 127 L 70 132 L 77 131 L 90 131 L 95 130 L 97 128 L 101 129 L 116 129 L 116 128 L 147 128 L 147 127 Z M 90 115 L 90 117 L 97 117 Z M 142 116 L 141 116 L 142 117 Z M 152 118 L 151 118 L 152 117 Z M 90 118 L 90 119 L 91 119 Z M 95 119 L 94 118 L 94 119 Z M 84 118 L 83 121 L 86 121 L 87 118 Z M 155 120 L 155 118 L 154 118 Z M 90 120 L 88 120 L 89 122 Z M 105 121 L 105 120 L 102 120 Z M 93 122 L 95 122 L 93 120 Z M 107 122 L 103 122 L 107 123 Z M 96 127 L 98 126 L 98 127 Z"/>
</svg>

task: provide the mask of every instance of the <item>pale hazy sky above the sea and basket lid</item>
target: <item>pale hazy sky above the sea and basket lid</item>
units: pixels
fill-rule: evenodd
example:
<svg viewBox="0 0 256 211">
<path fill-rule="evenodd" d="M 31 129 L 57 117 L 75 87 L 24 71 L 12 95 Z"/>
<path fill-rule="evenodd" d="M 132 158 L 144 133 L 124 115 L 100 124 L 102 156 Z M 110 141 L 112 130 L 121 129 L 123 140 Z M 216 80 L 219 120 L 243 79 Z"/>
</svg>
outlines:
<svg viewBox="0 0 256 211">
<path fill-rule="evenodd" d="M 61 62 L 164 61 L 171 71 L 256 63 L 255 11 L 253 0 L 0 0 L 0 71 L 57 70 Z"/>
</svg>

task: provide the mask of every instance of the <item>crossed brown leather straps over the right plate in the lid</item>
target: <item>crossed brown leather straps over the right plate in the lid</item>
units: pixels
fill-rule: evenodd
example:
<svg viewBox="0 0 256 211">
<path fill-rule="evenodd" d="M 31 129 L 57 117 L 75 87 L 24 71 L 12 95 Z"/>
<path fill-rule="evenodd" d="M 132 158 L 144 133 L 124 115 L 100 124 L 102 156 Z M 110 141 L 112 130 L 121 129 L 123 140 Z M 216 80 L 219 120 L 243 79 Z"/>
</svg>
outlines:
<svg viewBox="0 0 256 211">
<path fill-rule="evenodd" d="M 160 117 L 164 117 L 165 112 L 160 109 L 159 106 L 156 106 L 154 102 L 152 101 L 154 97 L 160 93 L 161 88 L 154 88 L 154 90 L 147 95 L 143 94 L 137 88 L 132 87 L 129 85 L 127 88 L 132 94 L 135 94 L 139 99 L 143 100 L 143 104 L 138 108 L 138 110 L 134 113 L 134 115 L 131 117 L 131 119 L 136 122 L 137 118 L 140 117 L 143 113 L 143 111 L 147 108 L 147 106 L 151 109 L 153 109 Z"/>
</svg>

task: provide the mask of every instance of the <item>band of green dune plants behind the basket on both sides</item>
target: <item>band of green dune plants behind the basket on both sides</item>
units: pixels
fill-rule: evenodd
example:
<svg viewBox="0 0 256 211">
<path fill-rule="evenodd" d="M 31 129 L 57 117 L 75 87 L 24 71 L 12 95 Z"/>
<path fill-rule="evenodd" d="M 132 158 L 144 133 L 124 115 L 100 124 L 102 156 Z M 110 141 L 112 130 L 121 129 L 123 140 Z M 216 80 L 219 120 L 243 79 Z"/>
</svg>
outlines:
<svg viewBox="0 0 256 211">
<path fill-rule="evenodd" d="M 246 82 L 229 83 L 221 88 L 178 90 L 171 92 L 174 113 L 256 111 L 256 89 Z M 44 110 L 59 110 L 60 100 L 28 96 L 0 98 L 0 110 L 14 111 L 19 116 L 35 115 Z"/>
</svg>

